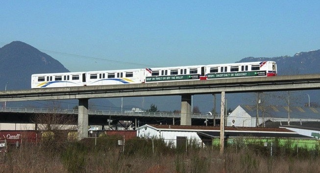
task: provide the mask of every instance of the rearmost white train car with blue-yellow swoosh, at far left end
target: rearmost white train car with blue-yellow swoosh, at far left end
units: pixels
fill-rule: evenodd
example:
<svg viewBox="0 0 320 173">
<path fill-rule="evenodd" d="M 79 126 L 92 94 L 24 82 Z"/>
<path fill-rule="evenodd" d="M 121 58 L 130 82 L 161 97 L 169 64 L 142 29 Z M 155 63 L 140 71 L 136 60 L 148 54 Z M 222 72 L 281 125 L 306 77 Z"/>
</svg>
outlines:
<svg viewBox="0 0 320 173">
<path fill-rule="evenodd" d="M 31 88 L 85 86 L 86 72 L 44 73 L 31 75 Z"/>
</svg>

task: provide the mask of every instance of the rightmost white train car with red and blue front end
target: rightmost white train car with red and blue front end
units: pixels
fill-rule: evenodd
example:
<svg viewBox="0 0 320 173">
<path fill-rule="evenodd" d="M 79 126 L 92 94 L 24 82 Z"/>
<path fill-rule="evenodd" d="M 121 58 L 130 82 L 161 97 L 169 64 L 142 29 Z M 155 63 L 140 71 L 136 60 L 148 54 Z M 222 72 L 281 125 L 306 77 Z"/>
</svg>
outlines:
<svg viewBox="0 0 320 173">
<path fill-rule="evenodd" d="M 277 66 L 273 61 L 206 65 L 207 79 L 276 76 Z"/>
</svg>

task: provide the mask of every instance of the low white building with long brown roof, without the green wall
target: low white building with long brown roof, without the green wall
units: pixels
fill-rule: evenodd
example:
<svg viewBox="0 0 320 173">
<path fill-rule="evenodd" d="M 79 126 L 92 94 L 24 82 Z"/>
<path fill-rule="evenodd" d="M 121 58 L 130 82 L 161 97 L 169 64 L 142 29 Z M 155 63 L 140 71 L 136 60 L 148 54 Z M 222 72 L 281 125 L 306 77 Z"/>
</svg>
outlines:
<svg viewBox="0 0 320 173">
<path fill-rule="evenodd" d="M 219 126 L 179 126 L 179 125 L 144 125 L 137 128 L 137 136 L 147 139 L 163 139 L 173 147 L 186 146 L 188 143 L 198 146 L 211 146 L 220 141 Z M 254 138 L 295 138 L 312 139 L 285 128 L 225 127 L 224 139 L 239 137 Z"/>
</svg>

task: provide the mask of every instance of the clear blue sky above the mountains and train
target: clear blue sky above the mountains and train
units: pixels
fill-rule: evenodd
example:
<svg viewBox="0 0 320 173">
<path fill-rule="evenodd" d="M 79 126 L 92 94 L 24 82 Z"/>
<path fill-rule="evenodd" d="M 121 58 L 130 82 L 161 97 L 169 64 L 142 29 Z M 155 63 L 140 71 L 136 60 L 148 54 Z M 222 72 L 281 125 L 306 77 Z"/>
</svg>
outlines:
<svg viewBox="0 0 320 173">
<path fill-rule="evenodd" d="M 1 0 L 0 26 L 71 71 L 233 63 L 320 49 L 320 1 Z"/>
</svg>

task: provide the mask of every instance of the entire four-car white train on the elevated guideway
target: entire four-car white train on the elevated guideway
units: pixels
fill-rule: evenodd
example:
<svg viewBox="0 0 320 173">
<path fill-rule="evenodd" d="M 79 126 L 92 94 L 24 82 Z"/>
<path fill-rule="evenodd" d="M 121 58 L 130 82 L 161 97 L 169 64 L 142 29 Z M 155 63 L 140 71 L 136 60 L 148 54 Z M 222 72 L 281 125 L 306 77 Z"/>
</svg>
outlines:
<svg viewBox="0 0 320 173">
<path fill-rule="evenodd" d="M 273 61 L 31 75 L 31 88 L 101 86 L 277 75 Z"/>
</svg>

